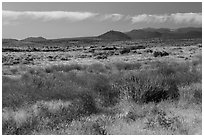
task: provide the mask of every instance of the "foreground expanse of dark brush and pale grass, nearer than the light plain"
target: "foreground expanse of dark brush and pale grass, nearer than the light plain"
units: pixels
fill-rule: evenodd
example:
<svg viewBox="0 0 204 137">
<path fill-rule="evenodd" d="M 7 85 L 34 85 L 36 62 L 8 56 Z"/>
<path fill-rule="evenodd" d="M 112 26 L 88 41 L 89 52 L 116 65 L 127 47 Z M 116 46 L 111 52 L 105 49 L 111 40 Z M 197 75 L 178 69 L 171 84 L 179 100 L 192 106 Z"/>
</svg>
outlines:
<svg viewBox="0 0 204 137">
<path fill-rule="evenodd" d="M 196 134 L 202 119 L 182 111 L 201 114 L 200 65 L 70 64 L 4 76 L 3 134 Z"/>
</svg>

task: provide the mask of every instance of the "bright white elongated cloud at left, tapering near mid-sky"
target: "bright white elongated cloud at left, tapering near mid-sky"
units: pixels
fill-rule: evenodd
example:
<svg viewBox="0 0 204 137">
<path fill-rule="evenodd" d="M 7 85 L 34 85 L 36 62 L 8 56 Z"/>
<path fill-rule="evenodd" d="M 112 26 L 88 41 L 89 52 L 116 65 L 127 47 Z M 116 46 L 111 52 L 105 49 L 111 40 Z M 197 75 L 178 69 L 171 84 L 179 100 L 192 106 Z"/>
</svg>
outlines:
<svg viewBox="0 0 204 137">
<path fill-rule="evenodd" d="M 98 13 L 92 12 L 67 12 L 67 11 L 3 11 L 2 17 L 5 21 L 20 18 L 42 19 L 43 21 L 66 19 L 70 21 L 81 21 L 93 18 Z"/>
</svg>

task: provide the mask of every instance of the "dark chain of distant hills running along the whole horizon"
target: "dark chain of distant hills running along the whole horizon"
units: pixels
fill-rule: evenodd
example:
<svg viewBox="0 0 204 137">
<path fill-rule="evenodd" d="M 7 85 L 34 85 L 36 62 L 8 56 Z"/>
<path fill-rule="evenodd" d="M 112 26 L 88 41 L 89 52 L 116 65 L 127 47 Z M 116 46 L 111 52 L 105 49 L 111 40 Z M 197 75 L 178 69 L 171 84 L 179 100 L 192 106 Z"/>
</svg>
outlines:
<svg viewBox="0 0 204 137">
<path fill-rule="evenodd" d="M 67 46 L 70 43 L 80 41 L 89 44 L 97 41 L 126 41 L 136 39 L 191 39 L 202 38 L 202 28 L 186 27 L 178 29 L 169 28 L 143 28 L 134 29 L 129 32 L 108 31 L 99 36 L 75 37 L 75 38 L 58 38 L 46 39 L 43 37 L 28 37 L 22 40 L 17 39 L 2 39 L 2 46 L 51 46 L 63 45 Z"/>
</svg>

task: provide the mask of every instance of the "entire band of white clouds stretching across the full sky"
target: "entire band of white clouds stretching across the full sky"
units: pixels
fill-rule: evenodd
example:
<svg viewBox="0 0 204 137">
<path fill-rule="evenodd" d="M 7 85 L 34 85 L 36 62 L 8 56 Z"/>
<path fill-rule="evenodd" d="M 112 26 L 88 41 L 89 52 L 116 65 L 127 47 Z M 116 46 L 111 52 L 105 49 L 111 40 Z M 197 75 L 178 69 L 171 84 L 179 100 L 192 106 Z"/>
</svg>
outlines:
<svg viewBox="0 0 204 137">
<path fill-rule="evenodd" d="M 11 25 L 20 19 L 33 19 L 42 21 L 67 20 L 83 21 L 94 19 L 95 21 L 128 21 L 134 23 L 174 23 L 174 24 L 202 24 L 202 13 L 172 13 L 172 14 L 140 14 L 136 16 L 114 14 L 99 14 L 93 12 L 72 12 L 72 11 L 2 11 L 3 25 Z"/>
</svg>

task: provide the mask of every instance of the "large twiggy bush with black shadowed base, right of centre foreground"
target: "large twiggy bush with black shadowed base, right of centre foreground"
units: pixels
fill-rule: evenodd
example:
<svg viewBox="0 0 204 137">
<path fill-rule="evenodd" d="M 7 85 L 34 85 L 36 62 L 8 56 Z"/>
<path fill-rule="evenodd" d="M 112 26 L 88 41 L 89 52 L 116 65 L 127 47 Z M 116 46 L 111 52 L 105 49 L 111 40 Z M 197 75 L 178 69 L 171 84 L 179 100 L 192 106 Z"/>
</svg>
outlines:
<svg viewBox="0 0 204 137">
<path fill-rule="evenodd" d="M 178 87 L 170 76 L 165 77 L 150 71 L 128 75 L 125 80 L 128 94 L 138 103 L 179 99 Z"/>
</svg>

